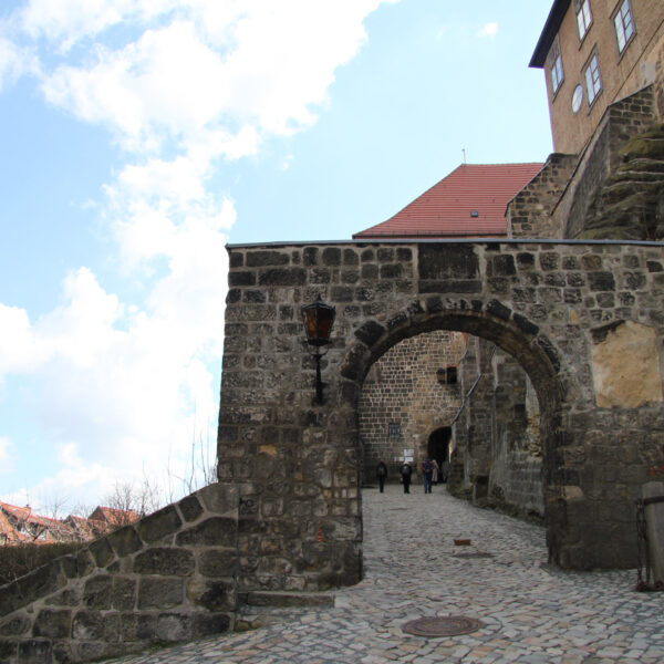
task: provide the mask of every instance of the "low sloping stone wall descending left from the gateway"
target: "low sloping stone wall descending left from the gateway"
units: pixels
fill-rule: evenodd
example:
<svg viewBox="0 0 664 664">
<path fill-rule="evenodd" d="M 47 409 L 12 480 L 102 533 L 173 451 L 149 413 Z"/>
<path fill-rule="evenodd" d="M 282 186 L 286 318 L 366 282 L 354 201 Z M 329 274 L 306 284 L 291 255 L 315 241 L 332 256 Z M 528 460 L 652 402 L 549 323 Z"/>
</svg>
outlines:
<svg viewBox="0 0 664 664">
<path fill-rule="evenodd" d="M 0 662 L 87 662 L 232 629 L 238 504 L 211 485 L 0 588 Z"/>
</svg>

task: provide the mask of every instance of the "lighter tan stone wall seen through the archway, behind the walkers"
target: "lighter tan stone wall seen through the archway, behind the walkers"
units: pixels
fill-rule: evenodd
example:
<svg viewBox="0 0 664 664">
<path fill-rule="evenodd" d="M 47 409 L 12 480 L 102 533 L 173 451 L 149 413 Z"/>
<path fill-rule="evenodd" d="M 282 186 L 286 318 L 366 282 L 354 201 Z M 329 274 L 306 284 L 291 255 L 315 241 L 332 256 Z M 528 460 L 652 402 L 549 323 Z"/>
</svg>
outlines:
<svg viewBox="0 0 664 664">
<path fill-rule="evenodd" d="M 388 480 L 397 480 L 404 449 L 415 450 L 418 467 L 430 433 L 450 426 L 460 405 L 459 386 L 438 382 L 437 371 L 456 367 L 465 347 L 463 334 L 429 332 L 392 346 L 371 367 L 357 408 L 364 481 L 375 483 L 381 459 Z"/>
</svg>

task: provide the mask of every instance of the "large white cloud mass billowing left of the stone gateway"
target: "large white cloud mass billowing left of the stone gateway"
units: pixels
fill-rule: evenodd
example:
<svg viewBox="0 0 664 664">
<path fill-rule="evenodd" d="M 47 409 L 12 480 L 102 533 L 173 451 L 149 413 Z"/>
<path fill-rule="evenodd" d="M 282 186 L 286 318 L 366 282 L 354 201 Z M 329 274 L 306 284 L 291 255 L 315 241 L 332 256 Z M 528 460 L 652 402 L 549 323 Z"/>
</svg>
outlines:
<svg viewBox="0 0 664 664">
<path fill-rule="evenodd" d="M 125 149 L 102 218 L 144 295 L 128 305 L 80 267 L 37 320 L 0 303 L 0 380 L 31 375 L 25 408 L 60 465 L 15 496 L 69 487 L 94 500 L 144 467 L 167 485 L 194 440 L 214 449 L 236 218 L 215 167 L 315 122 L 382 1 L 394 0 L 30 0 L 14 12 L 0 85 L 31 71 L 49 103 Z M 22 59 L 38 45 L 41 62 Z"/>
</svg>

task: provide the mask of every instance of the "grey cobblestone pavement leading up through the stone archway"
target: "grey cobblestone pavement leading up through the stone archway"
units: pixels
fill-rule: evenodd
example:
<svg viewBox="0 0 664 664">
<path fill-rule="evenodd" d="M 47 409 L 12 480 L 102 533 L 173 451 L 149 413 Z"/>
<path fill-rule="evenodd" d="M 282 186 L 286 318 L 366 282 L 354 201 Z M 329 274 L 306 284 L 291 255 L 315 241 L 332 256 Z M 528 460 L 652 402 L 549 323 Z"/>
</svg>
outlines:
<svg viewBox="0 0 664 664">
<path fill-rule="evenodd" d="M 365 489 L 363 501 L 365 578 L 336 591 L 334 608 L 280 610 L 260 629 L 122 662 L 664 662 L 664 593 L 634 592 L 635 571 L 550 568 L 541 527 L 474 508 L 442 486 L 428 495 L 421 486 L 409 495 Z M 402 631 L 409 620 L 445 615 L 483 626 L 443 639 Z"/>
</svg>

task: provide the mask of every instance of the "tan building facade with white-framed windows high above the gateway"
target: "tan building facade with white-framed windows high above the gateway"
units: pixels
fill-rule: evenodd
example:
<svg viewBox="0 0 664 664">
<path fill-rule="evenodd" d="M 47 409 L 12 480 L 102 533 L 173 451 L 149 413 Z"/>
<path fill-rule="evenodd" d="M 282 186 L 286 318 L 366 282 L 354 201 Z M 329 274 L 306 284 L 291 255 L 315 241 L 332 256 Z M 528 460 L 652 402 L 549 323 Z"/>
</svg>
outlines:
<svg viewBox="0 0 664 664">
<path fill-rule="evenodd" d="M 580 154 L 611 104 L 661 82 L 663 48 L 660 0 L 556 0 L 530 61 L 546 73 L 556 152 Z"/>
</svg>

